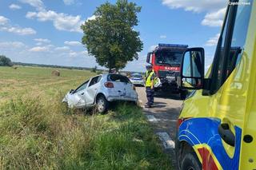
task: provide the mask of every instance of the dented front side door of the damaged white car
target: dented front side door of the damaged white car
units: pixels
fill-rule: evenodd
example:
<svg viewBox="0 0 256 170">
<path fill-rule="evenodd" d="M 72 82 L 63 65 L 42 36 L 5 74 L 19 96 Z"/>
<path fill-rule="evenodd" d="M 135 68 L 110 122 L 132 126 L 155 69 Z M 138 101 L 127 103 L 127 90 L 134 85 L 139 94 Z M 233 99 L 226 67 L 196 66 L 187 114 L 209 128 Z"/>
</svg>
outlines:
<svg viewBox="0 0 256 170">
<path fill-rule="evenodd" d="M 88 83 L 89 81 L 84 82 L 74 90 L 74 93 L 70 94 L 71 105 L 74 105 L 75 108 L 83 108 L 86 106 L 85 94 Z"/>
</svg>

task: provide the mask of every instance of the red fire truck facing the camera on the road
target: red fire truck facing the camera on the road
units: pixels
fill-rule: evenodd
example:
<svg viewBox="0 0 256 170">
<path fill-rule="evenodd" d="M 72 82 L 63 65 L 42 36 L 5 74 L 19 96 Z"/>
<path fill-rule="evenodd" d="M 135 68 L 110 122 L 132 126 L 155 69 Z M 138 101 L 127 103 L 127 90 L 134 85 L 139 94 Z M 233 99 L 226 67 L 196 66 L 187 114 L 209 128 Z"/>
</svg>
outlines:
<svg viewBox="0 0 256 170">
<path fill-rule="evenodd" d="M 182 54 L 187 48 L 188 45 L 158 44 L 153 52 L 147 54 L 146 62 L 153 66 L 154 72 L 161 80 L 161 85 L 156 91 L 180 93 L 181 98 L 186 97 L 186 91 L 178 88 L 177 77 Z"/>
</svg>

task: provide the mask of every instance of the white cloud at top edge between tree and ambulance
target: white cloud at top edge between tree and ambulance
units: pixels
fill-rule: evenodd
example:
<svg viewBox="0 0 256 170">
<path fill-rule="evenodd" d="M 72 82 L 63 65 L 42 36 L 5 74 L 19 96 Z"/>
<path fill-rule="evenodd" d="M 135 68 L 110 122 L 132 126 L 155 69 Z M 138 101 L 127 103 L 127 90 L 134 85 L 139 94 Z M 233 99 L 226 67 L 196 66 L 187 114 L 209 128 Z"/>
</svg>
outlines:
<svg viewBox="0 0 256 170">
<path fill-rule="evenodd" d="M 226 11 L 227 1 L 223 0 L 162 0 L 162 4 L 169 6 L 171 9 L 182 8 L 192 12 L 207 12 L 202 20 L 202 26 L 222 26 L 224 14 Z"/>
</svg>

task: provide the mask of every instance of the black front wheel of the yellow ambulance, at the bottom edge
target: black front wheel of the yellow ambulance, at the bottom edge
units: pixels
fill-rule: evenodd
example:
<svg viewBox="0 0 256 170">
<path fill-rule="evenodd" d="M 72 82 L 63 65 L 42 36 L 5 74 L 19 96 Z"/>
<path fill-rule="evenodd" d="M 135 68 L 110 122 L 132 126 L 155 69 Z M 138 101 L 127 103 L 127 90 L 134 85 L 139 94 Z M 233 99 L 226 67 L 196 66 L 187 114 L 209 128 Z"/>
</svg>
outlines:
<svg viewBox="0 0 256 170">
<path fill-rule="evenodd" d="M 183 156 L 181 170 L 201 170 L 202 165 L 198 160 L 198 156 L 194 152 L 186 153 Z"/>
</svg>

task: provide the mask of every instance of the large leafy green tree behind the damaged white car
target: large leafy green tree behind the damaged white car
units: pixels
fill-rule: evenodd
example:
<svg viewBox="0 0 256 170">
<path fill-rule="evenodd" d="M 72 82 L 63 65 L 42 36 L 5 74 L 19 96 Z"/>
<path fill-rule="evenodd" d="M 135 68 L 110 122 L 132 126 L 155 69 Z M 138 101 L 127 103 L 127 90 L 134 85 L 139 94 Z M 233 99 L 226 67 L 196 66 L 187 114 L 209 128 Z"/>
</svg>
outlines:
<svg viewBox="0 0 256 170">
<path fill-rule="evenodd" d="M 99 65 L 109 70 L 122 69 L 128 61 L 138 60 L 143 44 L 134 26 L 138 26 L 140 11 L 140 6 L 127 0 L 118 0 L 116 4 L 106 2 L 94 12 L 94 19 L 81 26 L 82 44 Z"/>
</svg>

